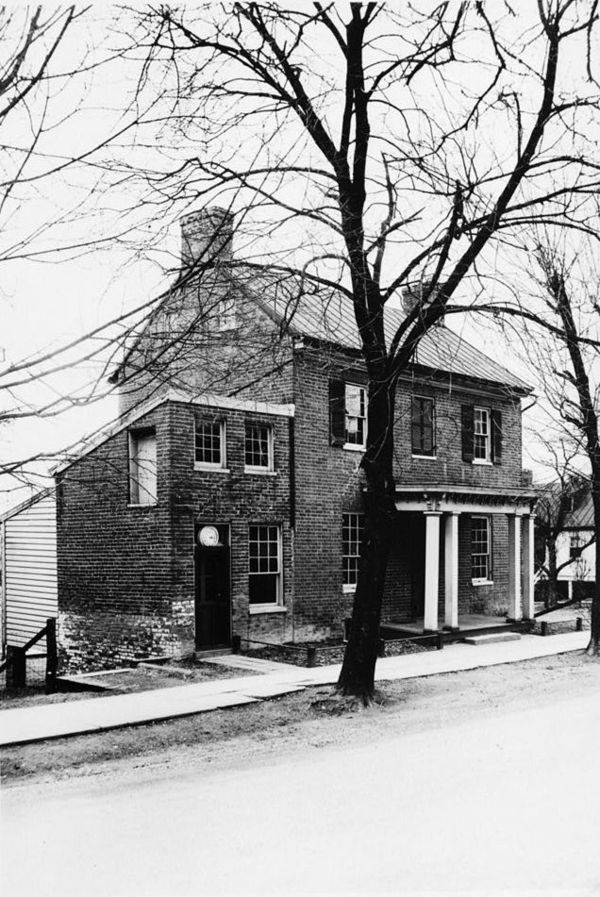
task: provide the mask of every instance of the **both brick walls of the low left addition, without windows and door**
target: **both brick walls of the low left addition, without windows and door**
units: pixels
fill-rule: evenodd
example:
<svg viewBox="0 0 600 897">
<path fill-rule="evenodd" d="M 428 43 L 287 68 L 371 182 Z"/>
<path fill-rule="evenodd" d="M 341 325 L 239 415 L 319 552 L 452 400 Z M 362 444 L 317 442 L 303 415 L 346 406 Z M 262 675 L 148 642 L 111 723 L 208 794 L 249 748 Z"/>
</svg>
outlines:
<svg viewBox="0 0 600 897">
<path fill-rule="evenodd" d="M 196 524 L 231 534 L 232 632 L 293 635 L 289 418 L 211 409 L 226 420 L 227 471 L 194 469 L 197 408 L 167 403 L 136 421 L 157 436 L 158 501 L 128 504 L 128 432 L 115 434 L 61 476 L 58 502 L 59 643 L 63 669 L 100 668 L 195 643 Z M 245 473 L 245 421 L 273 431 L 274 472 Z M 249 614 L 248 526 L 278 524 L 282 611 Z"/>
</svg>

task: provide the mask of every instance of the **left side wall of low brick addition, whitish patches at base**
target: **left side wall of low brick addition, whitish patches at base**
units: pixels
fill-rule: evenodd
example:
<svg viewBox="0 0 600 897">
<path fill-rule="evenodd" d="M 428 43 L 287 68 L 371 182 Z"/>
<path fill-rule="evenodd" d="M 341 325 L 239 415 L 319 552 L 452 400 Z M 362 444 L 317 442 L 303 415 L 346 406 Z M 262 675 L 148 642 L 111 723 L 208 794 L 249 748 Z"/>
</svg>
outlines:
<svg viewBox="0 0 600 897">
<path fill-rule="evenodd" d="M 157 436 L 158 502 L 129 505 L 128 432 L 59 478 L 57 566 L 62 667 L 114 666 L 172 651 L 172 536 L 166 406 L 136 422 Z"/>
</svg>

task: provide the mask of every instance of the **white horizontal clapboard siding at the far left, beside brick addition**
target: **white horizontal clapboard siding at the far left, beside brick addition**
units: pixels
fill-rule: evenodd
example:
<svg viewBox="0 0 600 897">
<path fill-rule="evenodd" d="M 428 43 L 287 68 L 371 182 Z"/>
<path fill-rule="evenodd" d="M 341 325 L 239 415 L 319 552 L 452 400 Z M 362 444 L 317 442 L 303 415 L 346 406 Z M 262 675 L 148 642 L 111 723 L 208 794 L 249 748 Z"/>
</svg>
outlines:
<svg viewBox="0 0 600 897">
<path fill-rule="evenodd" d="M 6 643 L 24 645 L 57 613 L 54 494 L 4 523 Z M 46 640 L 32 651 L 45 651 Z"/>
</svg>

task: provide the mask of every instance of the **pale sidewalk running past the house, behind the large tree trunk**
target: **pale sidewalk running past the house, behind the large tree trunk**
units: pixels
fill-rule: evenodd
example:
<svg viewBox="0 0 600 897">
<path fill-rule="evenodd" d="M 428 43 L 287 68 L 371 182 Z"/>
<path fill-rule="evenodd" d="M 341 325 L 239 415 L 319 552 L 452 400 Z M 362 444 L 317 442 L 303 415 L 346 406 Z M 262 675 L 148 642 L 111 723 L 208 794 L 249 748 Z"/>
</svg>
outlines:
<svg viewBox="0 0 600 897">
<path fill-rule="evenodd" d="M 376 679 L 379 682 L 415 679 L 532 660 L 567 651 L 581 651 L 588 641 L 588 632 L 569 632 L 546 638 L 525 635 L 518 641 L 476 647 L 457 643 L 449 645 L 443 651 L 382 658 L 377 662 Z M 260 676 L 213 679 L 135 694 L 2 710 L 0 746 L 97 732 L 250 704 L 262 698 L 301 691 L 311 685 L 333 684 L 340 671 L 339 664 L 312 669 L 285 667 L 283 664 L 278 667 Z"/>
</svg>

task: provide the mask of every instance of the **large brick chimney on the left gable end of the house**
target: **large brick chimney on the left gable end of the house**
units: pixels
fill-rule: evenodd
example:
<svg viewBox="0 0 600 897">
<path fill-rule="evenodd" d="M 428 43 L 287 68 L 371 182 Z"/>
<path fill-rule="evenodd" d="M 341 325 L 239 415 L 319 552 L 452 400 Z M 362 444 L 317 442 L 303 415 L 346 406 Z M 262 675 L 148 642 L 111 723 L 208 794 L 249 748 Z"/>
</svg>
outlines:
<svg viewBox="0 0 600 897">
<path fill-rule="evenodd" d="M 181 263 L 213 265 L 231 259 L 233 213 L 218 206 L 190 212 L 181 219 Z"/>
</svg>

